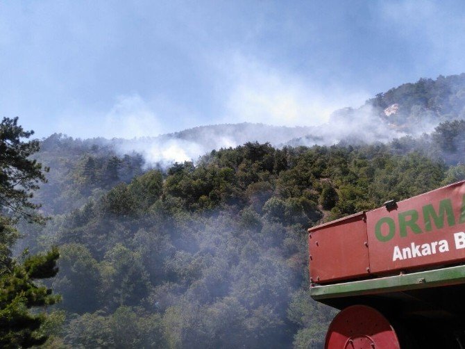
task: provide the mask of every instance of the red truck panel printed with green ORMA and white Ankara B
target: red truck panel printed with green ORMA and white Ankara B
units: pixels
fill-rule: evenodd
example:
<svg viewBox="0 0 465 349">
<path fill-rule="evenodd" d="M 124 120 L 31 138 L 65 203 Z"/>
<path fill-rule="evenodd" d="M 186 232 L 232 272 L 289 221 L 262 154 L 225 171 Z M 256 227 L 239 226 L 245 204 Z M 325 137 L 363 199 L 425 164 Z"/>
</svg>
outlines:
<svg viewBox="0 0 465 349">
<path fill-rule="evenodd" d="M 464 261 L 464 195 L 462 181 L 367 212 L 371 273 Z"/>
</svg>

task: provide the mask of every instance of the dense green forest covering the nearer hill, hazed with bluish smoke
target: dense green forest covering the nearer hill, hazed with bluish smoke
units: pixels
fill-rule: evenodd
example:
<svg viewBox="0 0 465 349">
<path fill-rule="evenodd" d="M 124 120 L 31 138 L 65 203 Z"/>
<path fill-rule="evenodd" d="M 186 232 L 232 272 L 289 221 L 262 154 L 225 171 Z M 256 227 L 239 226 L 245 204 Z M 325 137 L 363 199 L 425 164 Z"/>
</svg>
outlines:
<svg viewBox="0 0 465 349">
<path fill-rule="evenodd" d="M 33 202 L 50 219 L 17 222 L 15 254 L 60 253 L 44 348 L 321 348 L 336 311 L 308 293 L 305 230 L 465 179 L 458 116 L 389 143 L 248 142 L 169 167 L 42 140 Z"/>
</svg>

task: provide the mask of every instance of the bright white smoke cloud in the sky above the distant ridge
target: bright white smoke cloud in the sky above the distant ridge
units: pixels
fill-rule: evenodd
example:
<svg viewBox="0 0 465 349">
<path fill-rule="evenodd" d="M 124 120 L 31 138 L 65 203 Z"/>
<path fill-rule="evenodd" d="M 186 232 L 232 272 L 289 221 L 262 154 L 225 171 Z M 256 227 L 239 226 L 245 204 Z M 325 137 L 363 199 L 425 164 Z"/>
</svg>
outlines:
<svg viewBox="0 0 465 349">
<path fill-rule="evenodd" d="M 304 76 L 286 72 L 254 57 L 236 52 L 220 70 L 228 76 L 227 118 L 279 126 L 316 126 L 344 106 L 362 104 L 362 91 L 340 90 L 327 84 L 323 90 Z M 224 60 L 222 60 L 224 61 Z"/>
</svg>

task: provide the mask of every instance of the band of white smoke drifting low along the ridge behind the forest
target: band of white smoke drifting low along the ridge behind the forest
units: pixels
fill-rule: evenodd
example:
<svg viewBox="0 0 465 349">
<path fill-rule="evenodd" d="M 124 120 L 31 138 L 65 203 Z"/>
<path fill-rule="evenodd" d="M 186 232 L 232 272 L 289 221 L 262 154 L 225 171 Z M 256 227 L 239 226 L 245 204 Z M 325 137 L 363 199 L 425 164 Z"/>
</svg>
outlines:
<svg viewBox="0 0 465 349">
<path fill-rule="evenodd" d="M 424 115 L 423 115 L 424 116 Z M 331 114 L 330 120 L 316 127 L 277 127 L 266 124 L 220 124 L 187 129 L 158 137 L 114 140 L 121 154 L 138 152 L 147 166 L 169 167 L 175 162 L 196 161 L 214 149 L 237 147 L 246 142 L 270 143 L 274 147 L 285 145 L 335 145 L 360 143 L 388 143 L 403 136 L 420 136 L 437 126 L 431 120 L 418 122 L 408 130 L 380 117 L 366 104 L 360 108 L 344 108 Z"/>
</svg>

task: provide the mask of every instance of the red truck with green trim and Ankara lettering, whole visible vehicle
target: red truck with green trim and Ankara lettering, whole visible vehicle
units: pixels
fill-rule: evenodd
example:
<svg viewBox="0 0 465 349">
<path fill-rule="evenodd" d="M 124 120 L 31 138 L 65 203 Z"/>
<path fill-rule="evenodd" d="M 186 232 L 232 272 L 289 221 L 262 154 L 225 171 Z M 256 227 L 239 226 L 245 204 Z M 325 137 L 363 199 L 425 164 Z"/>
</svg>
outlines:
<svg viewBox="0 0 465 349">
<path fill-rule="evenodd" d="M 325 348 L 465 347 L 465 181 L 308 229 Z"/>
</svg>

